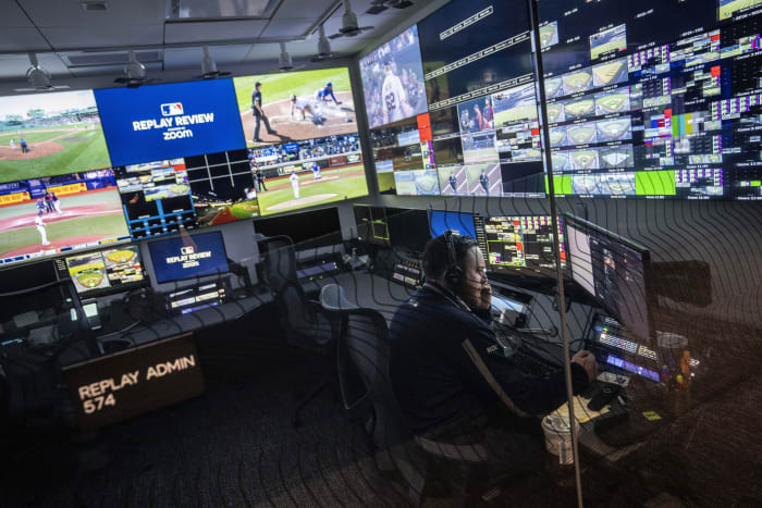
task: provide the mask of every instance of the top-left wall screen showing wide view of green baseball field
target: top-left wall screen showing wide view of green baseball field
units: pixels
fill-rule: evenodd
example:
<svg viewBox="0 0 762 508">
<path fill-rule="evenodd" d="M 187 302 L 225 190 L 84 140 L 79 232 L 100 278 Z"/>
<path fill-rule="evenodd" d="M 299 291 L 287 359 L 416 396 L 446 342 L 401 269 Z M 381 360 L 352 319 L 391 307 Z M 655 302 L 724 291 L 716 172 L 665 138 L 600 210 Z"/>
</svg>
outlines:
<svg viewBox="0 0 762 508">
<path fill-rule="evenodd" d="M 110 166 L 93 90 L 0 97 L 0 182 Z"/>
</svg>

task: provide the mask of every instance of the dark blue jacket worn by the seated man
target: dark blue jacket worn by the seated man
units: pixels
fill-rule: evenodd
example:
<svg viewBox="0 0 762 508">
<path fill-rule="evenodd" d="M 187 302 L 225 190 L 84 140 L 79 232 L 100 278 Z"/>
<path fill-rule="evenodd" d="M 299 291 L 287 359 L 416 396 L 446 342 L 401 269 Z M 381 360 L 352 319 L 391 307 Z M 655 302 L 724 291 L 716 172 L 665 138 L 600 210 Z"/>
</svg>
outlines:
<svg viewBox="0 0 762 508">
<path fill-rule="evenodd" d="M 390 338 L 392 385 L 416 434 L 484 414 L 495 405 L 539 414 L 566 399 L 563 372 L 548 379 L 524 374 L 496 347 L 489 311 L 471 312 L 439 285 L 427 284 L 400 306 Z M 576 363 L 572 377 L 575 393 L 588 384 Z"/>
</svg>

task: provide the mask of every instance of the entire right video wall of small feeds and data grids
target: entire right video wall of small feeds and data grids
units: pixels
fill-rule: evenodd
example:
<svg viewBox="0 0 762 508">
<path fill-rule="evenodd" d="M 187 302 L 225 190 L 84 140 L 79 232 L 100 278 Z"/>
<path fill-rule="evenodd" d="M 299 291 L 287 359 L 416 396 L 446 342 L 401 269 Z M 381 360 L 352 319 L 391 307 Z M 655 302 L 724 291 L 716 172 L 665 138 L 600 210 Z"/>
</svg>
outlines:
<svg viewBox="0 0 762 508">
<path fill-rule="evenodd" d="M 558 196 L 762 199 L 761 1 L 544 0 L 539 11 L 545 104 L 524 2 L 455 0 L 361 60 L 381 191 L 544 196 L 542 106 Z M 429 146 L 395 137 L 423 110 L 383 114 L 411 96 L 417 71 Z M 384 89 L 401 91 L 384 101 Z"/>
</svg>

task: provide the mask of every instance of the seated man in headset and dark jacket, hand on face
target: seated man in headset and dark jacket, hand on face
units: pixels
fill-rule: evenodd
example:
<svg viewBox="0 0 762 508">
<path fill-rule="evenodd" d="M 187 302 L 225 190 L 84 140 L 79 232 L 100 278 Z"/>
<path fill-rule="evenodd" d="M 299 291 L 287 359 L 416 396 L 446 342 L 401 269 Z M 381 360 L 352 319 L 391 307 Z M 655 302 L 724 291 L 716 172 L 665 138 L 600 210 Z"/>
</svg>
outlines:
<svg viewBox="0 0 762 508">
<path fill-rule="evenodd" d="M 390 326 L 390 376 L 416 435 L 453 444 L 486 439 L 491 459 L 509 462 L 521 455 L 519 462 L 527 462 L 527 443 L 511 436 L 529 430 L 533 437 L 524 441 L 542 451 L 540 429 L 536 419 L 518 417 L 557 408 L 566 399 L 565 377 L 563 372 L 532 377 L 503 357 L 490 327 L 492 288 L 484 269 L 481 249 L 469 236 L 445 232 L 429 241 L 427 282 L 397 309 Z M 594 357 L 577 352 L 572 359 L 574 392 L 595 374 Z M 505 444 L 503 436 L 512 442 Z M 539 457 L 542 462 L 543 455 Z M 508 469 L 514 466 L 528 464 Z"/>
</svg>

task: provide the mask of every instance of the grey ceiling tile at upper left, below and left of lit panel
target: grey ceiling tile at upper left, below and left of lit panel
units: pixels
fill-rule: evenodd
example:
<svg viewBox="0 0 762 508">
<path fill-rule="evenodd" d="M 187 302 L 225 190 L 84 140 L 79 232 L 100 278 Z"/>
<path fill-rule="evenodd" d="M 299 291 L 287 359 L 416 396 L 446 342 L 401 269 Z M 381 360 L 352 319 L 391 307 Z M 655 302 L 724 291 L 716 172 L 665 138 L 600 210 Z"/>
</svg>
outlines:
<svg viewBox="0 0 762 508">
<path fill-rule="evenodd" d="M 54 48 L 98 49 L 161 45 L 161 29 L 162 25 L 93 25 L 86 30 L 77 27 L 50 27 L 42 28 L 42 32 Z"/>
</svg>

